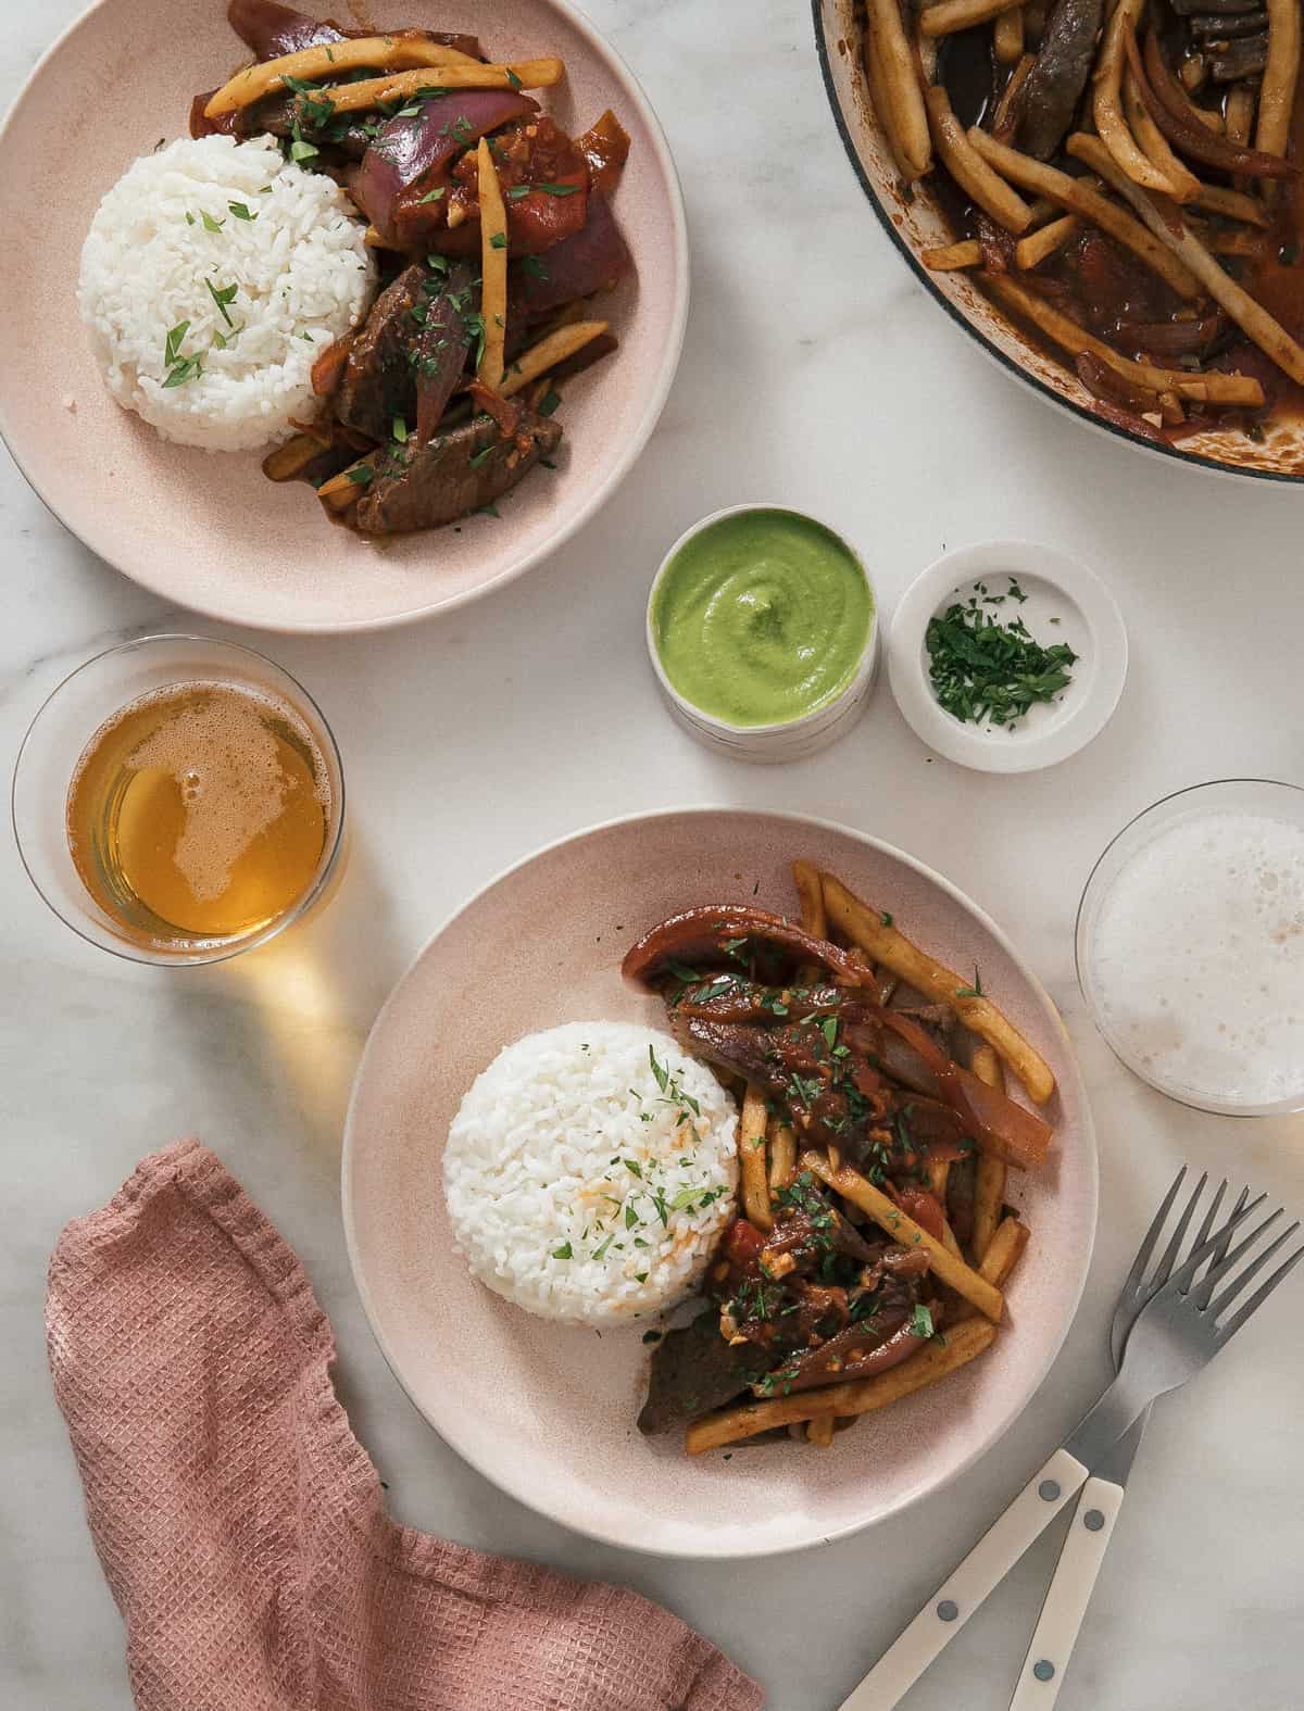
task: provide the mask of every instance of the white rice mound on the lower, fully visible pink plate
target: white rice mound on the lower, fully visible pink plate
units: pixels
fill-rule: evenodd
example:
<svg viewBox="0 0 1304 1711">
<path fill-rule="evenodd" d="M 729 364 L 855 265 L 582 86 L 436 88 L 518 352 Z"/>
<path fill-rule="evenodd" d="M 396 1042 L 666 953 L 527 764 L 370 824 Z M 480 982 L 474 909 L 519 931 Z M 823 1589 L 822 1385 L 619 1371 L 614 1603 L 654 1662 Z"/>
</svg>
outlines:
<svg viewBox="0 0 1304 1711">
<path fill-rule="evenodd" d="M 448 1129 L 453 1239 L 483 1283 L 544 1319 L 659 1312 L 691 1292 L 732 1217 L 736 1143 L 732 1098 L 669 1033 L 529 1033 Z"/>
</svg>

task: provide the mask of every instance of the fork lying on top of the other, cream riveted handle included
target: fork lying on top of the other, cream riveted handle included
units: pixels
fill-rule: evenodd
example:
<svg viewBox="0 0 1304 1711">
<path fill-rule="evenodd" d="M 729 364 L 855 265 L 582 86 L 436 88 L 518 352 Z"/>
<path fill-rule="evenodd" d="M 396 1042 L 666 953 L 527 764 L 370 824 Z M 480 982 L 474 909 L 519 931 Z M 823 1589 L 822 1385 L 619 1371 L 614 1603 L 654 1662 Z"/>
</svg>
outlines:
<svg viewBox="0 0 1304 1711">
<path fill-rule="evenodd" d="M 1280 1210 L 1232 1247 L 1232 1235 L 1263 1205 L 1266 1196 L 1260 1194 L 1249 1199 L 1248 1194 L 1242 1194 L 1230 1217 L 1218 1228 L 1212 1228 L 1225 1193 L 1224 1184 L 1205 1215 L 1194 1249 L 1177 1264 L 1186 1230 L 1205 1187 L 1205 1181 L 1201 1181 L 1155 1275 L 1147 1278 L 1150 1258 L 1184 1177 L 1186 1169 L 1169 1189 L 1124 1283 L 1116 1314 L 1121 1360 L 1114 1382 L 1064 1439 L 1064 1444 L 1028 1480 L 1005 1514 L 984 1533 L 950 1579 L 938 1588 L 926 1608 L 880 1658 L 861 1685 L 852 1690 L 840 1711 L 890 1711 L 1073 1494 L 1087 1483 L 1090 1470 L 1105 1459 L 1129 1429 L 1143 1425 L 1143 1417 L 1159 1396 L 1177 1389 L 1200 1372 L 1304 1258 L 1304 1246 L 1297 1247 L 1236 1312 L 1229 1312 L 1236 1297 L 1258 1276 L 1299 1225 L 1292 1225 L 1278 1235 L 1237 1275 L 1237 1266 L 1254 1242 L 1277 1222 Z M 1200 1278 L 1198 1287 L 1196 1278 Z M 1140 1432 L 1136 1439 L 1140 1441 Z M 1100 1483 L 1112 1485 L 1116 1495 L 1105 1501 L 1117 1513 L 1121 1487 L 1112 1482 Z M 1109 1531 L 1109 1528 L 1102 1528 L 1102 1531 Z M 1099 1569 L 1099 1562 L 1095 1567 Z M 1094 1579 L 1095 1571 L 1092 1583 Z M 1088 1595 L 1090 1584 L 1087 1586 Z M 1078 1622 L 1087 1608 L 1087 1596 L 1075 1598 L 1075 1605 L 1080 1605 Z M 1068 1627 L 1071 1641 L 1075 1631 L 1071 1620 Z M 1034 1667 L 1037 1661 L 1049 1663 L 1044 1655 L 1034 1660 Z M 1054 1682 L 1058 1675 L 1059 1672 L 1051 1665 L 1046 1685 Z M 1044 1672 L 1034 1675 L 1034 1680 L 1037 1687 L 1042 1687 Z M 1058 1685 L 1054 1690 L 1058 1692 Z M 1035 1702 L 1051 1704 L 1052 1697 Z"/>
</svg>

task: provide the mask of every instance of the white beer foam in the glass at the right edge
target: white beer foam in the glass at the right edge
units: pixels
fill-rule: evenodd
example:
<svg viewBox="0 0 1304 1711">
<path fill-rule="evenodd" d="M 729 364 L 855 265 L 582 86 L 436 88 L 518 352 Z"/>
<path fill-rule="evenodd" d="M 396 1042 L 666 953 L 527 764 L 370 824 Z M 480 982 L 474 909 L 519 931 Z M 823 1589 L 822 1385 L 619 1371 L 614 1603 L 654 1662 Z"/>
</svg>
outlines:
<svg viewBox="0 0 1304 1711">
<path fill-rule="evenodd" d="M 1090 980 L 1105 1033 L 1179 1097 L 1299 1097 L 1304 828 L 1220 813 L 1160 830 L 1100 900 Z"/>
</svg>

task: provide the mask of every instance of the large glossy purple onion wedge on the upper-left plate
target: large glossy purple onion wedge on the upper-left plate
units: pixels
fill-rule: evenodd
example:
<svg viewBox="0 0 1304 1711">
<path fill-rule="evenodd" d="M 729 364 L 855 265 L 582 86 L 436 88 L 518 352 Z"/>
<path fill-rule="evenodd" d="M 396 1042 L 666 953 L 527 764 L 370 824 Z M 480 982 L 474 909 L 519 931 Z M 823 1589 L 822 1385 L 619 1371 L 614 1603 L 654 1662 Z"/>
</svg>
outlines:
<svg viewBox="0 0 1304 1711">
<path fill-rule="evenodd" d="M 440 70 L 430 68 L 431 86 Z M 539 103 L 513 89 L 455 89 L 426 101 L 411 118 L 392 118 L 363 156 L 353 181 L 353 193 L 376 231 L 390 243 L 397 240 L 395 214 L 399 195 L 416 190 L 453 156 L 488 132 L 525 113 L 537 113 Z"/>
</svg>

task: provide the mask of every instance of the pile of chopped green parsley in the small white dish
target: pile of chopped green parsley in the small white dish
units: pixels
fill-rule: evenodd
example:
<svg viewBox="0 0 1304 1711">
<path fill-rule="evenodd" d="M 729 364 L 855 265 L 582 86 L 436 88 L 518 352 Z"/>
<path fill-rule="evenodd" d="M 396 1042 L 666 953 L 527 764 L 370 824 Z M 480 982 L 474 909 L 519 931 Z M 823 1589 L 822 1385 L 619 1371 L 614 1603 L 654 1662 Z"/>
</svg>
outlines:
<svg viewBox="0 0 1304 1711">
<path fill-rule="evenodd" d="M 1027 599 L 1013 578 L 1010 597 Z M 1006 729 L 1034 703 L 1054 702 L 1073 681 L 1070 667 L 1078 660 L 1066 642 L 1042 647 L 1022 618 L 1003 623 L 975 597 L 931 618 L 924 643 L 938 705 L 962 724 L 986 720 Z"/>
</svg>

